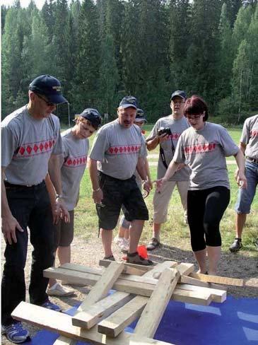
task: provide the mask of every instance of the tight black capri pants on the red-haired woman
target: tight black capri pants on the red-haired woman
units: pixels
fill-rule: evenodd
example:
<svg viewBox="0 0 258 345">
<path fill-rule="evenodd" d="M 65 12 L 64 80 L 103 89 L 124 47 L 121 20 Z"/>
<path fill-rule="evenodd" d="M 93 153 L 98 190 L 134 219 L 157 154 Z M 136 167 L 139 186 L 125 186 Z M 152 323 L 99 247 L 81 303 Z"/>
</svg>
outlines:
<svg viewBox="0 0 258 345">
<path fill-rule="evenodd" d="M 187 217 L 194 252 L 206 245 L 221 246 L 219 225 L 229 201 L 230 189 L 223 186 L 188 191 Z"/>
</svg>

